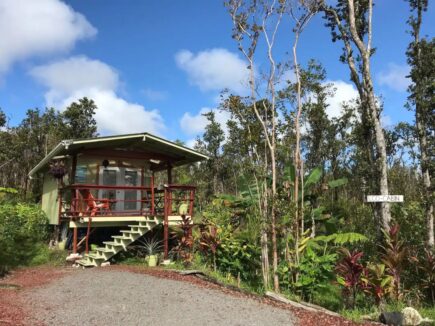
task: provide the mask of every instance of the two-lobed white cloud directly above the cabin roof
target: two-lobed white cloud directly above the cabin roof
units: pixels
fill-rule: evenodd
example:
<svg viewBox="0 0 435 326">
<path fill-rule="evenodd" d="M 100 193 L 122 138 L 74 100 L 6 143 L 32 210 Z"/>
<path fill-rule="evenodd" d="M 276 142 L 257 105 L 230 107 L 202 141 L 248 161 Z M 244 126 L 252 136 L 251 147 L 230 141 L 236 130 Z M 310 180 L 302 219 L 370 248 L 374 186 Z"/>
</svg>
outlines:
<svg viewBox="0 0 435 326">
<path fill-rule="evenodd" d="M 116 94 L 119 76 L 98 60 L 80 56 L 33 68 L 30 74 L 48 88 L 49 106 L 66 108 L 84 96 L 98 106 L 95 114 L 101 134 L 122 134 L 148 131 L 161 134 L 163 119 L 157 110 L 146 110 Z"/>
</svg>

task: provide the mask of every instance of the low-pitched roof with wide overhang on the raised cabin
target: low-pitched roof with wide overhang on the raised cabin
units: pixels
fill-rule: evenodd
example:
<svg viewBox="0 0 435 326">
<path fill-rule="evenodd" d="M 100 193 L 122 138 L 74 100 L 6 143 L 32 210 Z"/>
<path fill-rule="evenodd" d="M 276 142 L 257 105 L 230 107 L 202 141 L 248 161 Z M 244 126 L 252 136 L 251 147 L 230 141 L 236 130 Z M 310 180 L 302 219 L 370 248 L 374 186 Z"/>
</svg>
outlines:
<svg viewBox="0 0 435 326">
<path fill-rule="evenodd" d="M 149 160 L 153 155 L 159 158 L 161 164 L 154 163 L 155 170 L 171 166 L 181 166 L 206 160 L 209 157 L 188 147 L 176 144 L 166 139 L 149 133 L 129 134 L 89 139 L 67 139 L 61 141 L 47 154 L 30 172 L 32 178 L 37 172 L 46 167 L 48 163 L 57 157 L 66 157 L 80 153 L 89 153 L 92 150 L 117 149 L 119 153 L 136 152 L 148 153 Z M 144 154 L 145 155 L 145 154 Z M 127 155 L 126 155 L 127 156 Z M 128 156 L 127 156 L 128 157 Z M 164 159 L 162 159 L 162 157 Z M 154 160 L 155 161 L 155 160 Z"/>
</svg>

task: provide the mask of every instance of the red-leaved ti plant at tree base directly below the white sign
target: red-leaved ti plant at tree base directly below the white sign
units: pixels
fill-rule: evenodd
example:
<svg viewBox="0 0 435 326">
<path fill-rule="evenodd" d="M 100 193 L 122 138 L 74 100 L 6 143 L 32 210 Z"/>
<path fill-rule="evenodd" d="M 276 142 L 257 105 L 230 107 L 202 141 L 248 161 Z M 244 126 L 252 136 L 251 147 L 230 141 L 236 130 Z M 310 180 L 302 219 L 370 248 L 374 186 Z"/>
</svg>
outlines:
<svg viewBox="0 0 435 326">
<path fill-rule="evenodd" d="M 399 238 L 399 231 L 398 224 L 393 225 L 389 232 L 384 231 L 385 244 L 380 246 L 383 251 L 382 263 L 385 265 L 387 274 L 393 277 L 393 292 L 391 294 L 396 300 L 403 298 L 401 275 L 408 255 L 408 250 Z"/>
</svg>

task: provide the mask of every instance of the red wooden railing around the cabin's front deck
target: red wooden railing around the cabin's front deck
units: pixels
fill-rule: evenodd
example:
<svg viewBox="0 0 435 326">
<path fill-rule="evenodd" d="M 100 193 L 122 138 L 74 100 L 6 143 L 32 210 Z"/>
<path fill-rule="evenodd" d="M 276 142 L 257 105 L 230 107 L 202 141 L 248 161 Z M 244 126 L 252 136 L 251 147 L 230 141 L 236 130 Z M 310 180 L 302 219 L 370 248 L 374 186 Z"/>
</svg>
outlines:
<svg viewBox="0 0 435 326">
<path fill-rule="evenodd" d="M 64 219 L 102 216 L 193 215 L 194 186 L 161 187 L 73 184 L 62 189 L 60 214 Z"/>
</svg>

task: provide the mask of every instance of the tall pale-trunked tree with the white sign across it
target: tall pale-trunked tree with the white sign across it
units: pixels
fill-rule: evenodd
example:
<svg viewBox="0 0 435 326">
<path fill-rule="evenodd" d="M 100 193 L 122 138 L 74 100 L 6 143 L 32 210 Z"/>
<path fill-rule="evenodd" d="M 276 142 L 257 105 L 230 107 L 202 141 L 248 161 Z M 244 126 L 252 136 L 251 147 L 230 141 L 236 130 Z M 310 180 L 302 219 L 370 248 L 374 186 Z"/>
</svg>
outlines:
<svg viewBox="0 0 435 326">
<path fill-rule="evenodd" d="M 375 170 L 379 179 L 378 191 L 388 195 L 387 151 L 384 130 L 381 125 L 381 110 L 377 105 L 373 79 L 370 71 L 372 48 L 372 13 L 373 0 L 338 0 L 335 6 L 323 3 L 327 26 L 331 28 L 332 41 L 342 41 L 343 55 L 341 61 L 350 69 L 350 79 L 355 84 L 361 107 L 362 120 L 367 120 L 370 130 L 368 140 L 373 144 Z M 356 55 L 356 56 L 355 56 Z M 391 213 L 389 203 L 377 206 L 378 226 L 387 232 L 390 229 Z"/>
</svg>

